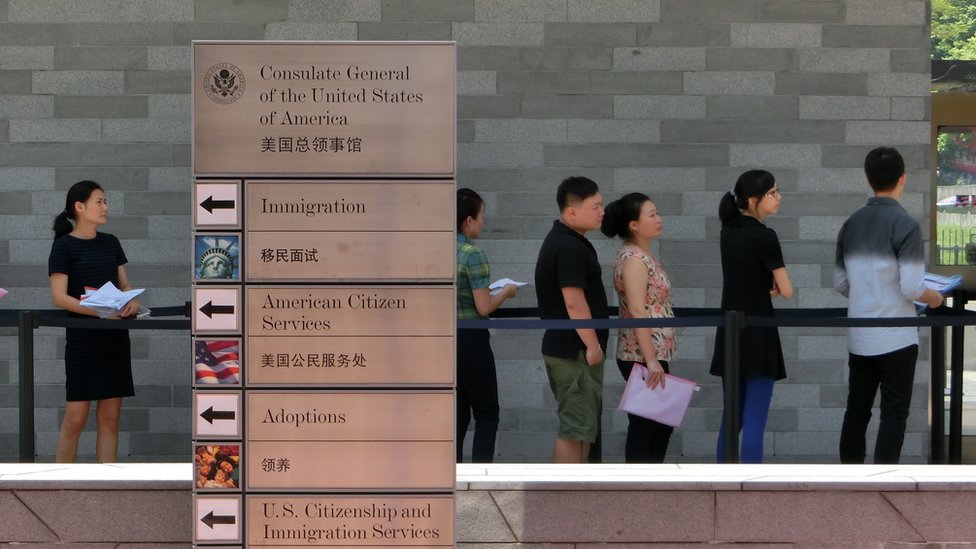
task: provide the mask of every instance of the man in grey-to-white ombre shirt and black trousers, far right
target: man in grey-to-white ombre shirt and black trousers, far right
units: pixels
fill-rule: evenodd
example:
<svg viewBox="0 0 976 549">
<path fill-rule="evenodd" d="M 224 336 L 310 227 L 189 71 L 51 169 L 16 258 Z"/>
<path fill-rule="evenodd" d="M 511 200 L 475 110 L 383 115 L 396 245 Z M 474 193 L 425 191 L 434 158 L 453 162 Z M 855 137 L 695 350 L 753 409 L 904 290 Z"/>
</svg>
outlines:
<svg viewBox="0 0 976 549">
<path fill-rule="evenodd" d="M 847 316 L 915 316 L 914 301 L 936 308 L 943 297 L 925 287 L 925 257 L 918 223 L 898 200 L 905 189 L 905 161 L 879 147 L 864 159 L 874 196 L 837 235 L 834 288 L 848 298 Z M 881 423 L 875 463 L 898 463 L 912 400 L 918 329 L 849 328 L 847 411 L 840 435 L 841 463 L 864 463 L 865 432 L 881 389 Z"/>
</svg>

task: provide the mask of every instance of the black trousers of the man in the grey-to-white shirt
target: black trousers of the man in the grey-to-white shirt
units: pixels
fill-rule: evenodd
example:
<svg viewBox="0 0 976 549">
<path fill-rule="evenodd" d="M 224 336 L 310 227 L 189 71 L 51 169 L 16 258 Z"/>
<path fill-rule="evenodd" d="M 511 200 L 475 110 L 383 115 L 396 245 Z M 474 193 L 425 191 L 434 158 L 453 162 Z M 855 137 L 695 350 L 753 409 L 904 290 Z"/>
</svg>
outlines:
<svg viewBox="0 0 976 549">
<path fill-rule="evenodd" d="M 874 462 L 898 463 L 905 440 L 905 424 L 912 402 L 918 345 L 876 356 L 850 355 L 849 392 L 840 431 L 841 463 L 864 463 L 865 433 L 874 395 L 881 388 L 881 422 L 874 445 Z"/>
</svg>

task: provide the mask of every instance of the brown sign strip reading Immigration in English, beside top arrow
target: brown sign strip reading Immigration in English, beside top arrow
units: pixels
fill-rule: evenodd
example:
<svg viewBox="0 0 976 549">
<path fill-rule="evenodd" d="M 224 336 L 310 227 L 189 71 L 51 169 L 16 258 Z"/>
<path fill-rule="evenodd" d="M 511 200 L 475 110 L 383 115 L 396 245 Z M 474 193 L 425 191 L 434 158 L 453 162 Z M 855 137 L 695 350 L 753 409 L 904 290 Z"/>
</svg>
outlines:
<svg viewBox="0 0 976 549">
<path fill-rule="evenodd" d="M 247 230 L 455 232 L 453 181 L 247 181 Z"/>
</svg>

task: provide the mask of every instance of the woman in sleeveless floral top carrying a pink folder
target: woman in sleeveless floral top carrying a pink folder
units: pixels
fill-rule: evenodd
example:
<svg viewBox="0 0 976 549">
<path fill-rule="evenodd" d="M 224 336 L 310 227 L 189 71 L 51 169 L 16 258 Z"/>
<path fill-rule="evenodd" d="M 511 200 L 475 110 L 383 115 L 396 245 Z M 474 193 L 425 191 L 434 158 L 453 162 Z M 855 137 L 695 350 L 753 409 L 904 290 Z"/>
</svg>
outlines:
<svg viewBox="0 0 976 549">
<path fill-rule="evenodd" d="M 651 241 L 663 225 L 647 195 L 630 193 L 607 205 L 600 227 L 603 234 L 623 239 L 613 264 L 620 318 L 671 318 L 671 282 L 651 252 Z M 674 358 L 674 328 L 621 328 L 617 339 L 617 367 L 627 379 L 637 368 L 651 390 L 663 390 L 664 374 Z M 627 414 L 627 463 L 663 463 L 673 427 Z"/>
</svg>

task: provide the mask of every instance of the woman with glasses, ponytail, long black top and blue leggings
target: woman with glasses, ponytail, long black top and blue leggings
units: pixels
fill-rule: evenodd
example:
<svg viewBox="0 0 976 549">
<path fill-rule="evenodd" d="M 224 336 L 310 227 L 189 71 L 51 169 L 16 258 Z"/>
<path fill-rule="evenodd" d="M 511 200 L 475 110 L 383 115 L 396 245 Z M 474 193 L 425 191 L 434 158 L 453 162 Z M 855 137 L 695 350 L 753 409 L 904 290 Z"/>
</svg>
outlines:
<svg viewBox="0 0 976 549">
<path fill-rule="evenodd" d="M 793 297 L 776 232 L 764 222 L 779 211 L 781 196 L 773 174 L 750 170 L 722 196 L 722 310 L 747 316 L 773 316 L 773 298 Z M 719 328 L 712 354 L 712 375 L 725 372 L 725 337 Z M 775 327 L 751 327 L 741 332 L 739 345 L 739 414 L 742 463 L 762 463 L 763 435 L 773 398 L 773 382 L 786 377 L 783 349 Z M 723 379 L 723 385 L 725 380 Z M 736 433 L 738 435 L 738 433 Z M 725 424 L 719 429 L 718 462 L 724 461 Z"/>
</svg>

